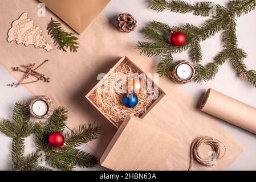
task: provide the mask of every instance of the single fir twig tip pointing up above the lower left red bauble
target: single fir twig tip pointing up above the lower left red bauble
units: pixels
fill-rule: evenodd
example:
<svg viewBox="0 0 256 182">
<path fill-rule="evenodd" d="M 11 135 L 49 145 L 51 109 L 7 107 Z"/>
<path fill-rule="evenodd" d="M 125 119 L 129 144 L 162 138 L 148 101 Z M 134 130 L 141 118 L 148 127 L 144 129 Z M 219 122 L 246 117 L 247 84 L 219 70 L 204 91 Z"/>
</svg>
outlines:
<svg viewBox="0 0 256 182">
<path fill-rule="evenodd" d="M 51 116 L 50 131 L 59 131 L 60 133 L 63 133 L 67 122 L 67 115 L 68 111 L 65 107 L 58 107 Z"/>
</svg>

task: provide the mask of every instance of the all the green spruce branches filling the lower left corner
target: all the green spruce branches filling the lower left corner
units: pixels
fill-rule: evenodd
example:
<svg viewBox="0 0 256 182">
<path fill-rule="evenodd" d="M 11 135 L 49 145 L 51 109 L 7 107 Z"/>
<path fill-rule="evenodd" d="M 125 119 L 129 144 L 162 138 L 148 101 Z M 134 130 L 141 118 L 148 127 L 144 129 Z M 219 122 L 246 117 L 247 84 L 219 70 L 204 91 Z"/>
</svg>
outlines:
<svg viewBox="0 0 256 182">
<path fill-rule="evenodd" d="M 65 107 L 58 107 L 54 111 L 50 123 L 46 121 L 32 122 L 29 119 L 29 103 L 17 102 L 13 111 L 13 122 L 7 119 L 0 120 L 0 131 L 13 138 L 11 146 L 13 170 L 51 170 L 41 165 L 42 156 L 39 153 L 45 155 L 46 162 L 52 167 L 62 170 L 72 170 L 75 166 L 92 168 L 97 164 L 94 155 L 75 148 L 98 137 L 101 128 L 94 124 L 83 125 L 78 129 L 73 129 L 71 134 L 65 134 L 66 146 L 56 148 L 48 144 L 48 136 L 52 131 L 63 132 L 67 121 L 67 112 Z M 24 141 L 32 133 L 35 134 L 37 150 L 25 158 Z"/>
</svg>

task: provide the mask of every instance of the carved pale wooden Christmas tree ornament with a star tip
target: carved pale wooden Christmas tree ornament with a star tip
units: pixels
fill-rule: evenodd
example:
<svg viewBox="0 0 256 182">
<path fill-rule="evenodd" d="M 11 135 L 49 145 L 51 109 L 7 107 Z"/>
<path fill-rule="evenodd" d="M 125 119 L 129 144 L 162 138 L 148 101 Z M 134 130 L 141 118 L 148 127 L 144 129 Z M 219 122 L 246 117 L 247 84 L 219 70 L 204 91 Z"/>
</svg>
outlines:
<svg viewBox="0 0 256 182">
<path fill-rule="evenodd" d="M 42 35 L 40 27 L 34 26 L 34 20 L 27 18 L 29 13 L 23 13 L 19 19 L 15 20 L 8 32 L 8 42 L 15 40 L 17 44 L 25 44 L 29 46 L 33 44 L 35 48 L 44 48 L 46 51 L 52 50 L 51 44 L 46 42 L 46 39 Z"/>
</svg>

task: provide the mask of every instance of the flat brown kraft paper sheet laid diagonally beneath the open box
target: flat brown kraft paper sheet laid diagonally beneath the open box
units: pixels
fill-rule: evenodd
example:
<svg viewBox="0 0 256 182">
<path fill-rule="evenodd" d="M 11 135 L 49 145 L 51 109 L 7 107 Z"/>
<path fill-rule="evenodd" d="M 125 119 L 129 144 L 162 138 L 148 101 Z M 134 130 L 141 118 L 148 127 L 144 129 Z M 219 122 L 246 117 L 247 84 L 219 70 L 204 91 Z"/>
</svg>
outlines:
<svg viewBox="0 0 256 182">
<path fill-rule="evenodd" d="M 115 127 L 95 109 L 84 97 L 96 85 L 99 73 L 107 73 L 124 55 L 133 60 L 145 73 L 155 73 L 156 64 L 151 59 L 139 55 L 135 45 L 123 33 L 117 30 L 107 18 L 99 16 L 82 36 L 79 36 L 78 53 L 59 51 L 56 47 L 50 52 L 44 49 L 25 47 L 15 42 L 7 42 L 7 32 L 11 22 L 23 12 L 29 12 L 36 26 L 42 27 L 47 42 L 53 42 L 47 36 L 47 23 L 50 18 L 58 19 L 47 10 L 46 17 L 36 15 L 38 1 L 1 0 L 0 53 L 1 64 L 17 79 L 21 73 L 11 71 L 11 67 L 21 64 L 50 60 L 40 68 L 40 72 L 51 78 L 50 83 L 36 82 L 26 85 L 35 96 L 47 95 L 58 106 L 69 110 L 67 126 L 72 129 L 84 123 L 95 122 L 103 127 L 99 139 L 88 145 L 100 156 L 116 132 Z M 71 31 L 63 24 L 63 28 Z M 1 84 L 9 84 L 2 82 Z M 241 154 L 243 147 L 227 132 L 215 118 L 197 108 L 197 103 L 182 88 L 168 78 L 160 78 L 159 86 L 166 95 L 144 117 L 158 127 L 164 128 L 179 140 L 177 150 L 169 156 L 162 169 L 187 170 L 189 167 L 189 148 L 192 141 L 201 136 L 214 137 L 227 147 L 226 155 L 218 160 L 217 165 L 206 168 L 194 162 L 194 170 L 216 170 L 227 168 Z M 15 88 L 13 88 L 15 89 Z M 206 150 L 207 149 L 207 150 Z M 201 152 L 208 156 L 207 147 Z M 139 164 L 138 164 L 139 165 Z"/>
</svg>

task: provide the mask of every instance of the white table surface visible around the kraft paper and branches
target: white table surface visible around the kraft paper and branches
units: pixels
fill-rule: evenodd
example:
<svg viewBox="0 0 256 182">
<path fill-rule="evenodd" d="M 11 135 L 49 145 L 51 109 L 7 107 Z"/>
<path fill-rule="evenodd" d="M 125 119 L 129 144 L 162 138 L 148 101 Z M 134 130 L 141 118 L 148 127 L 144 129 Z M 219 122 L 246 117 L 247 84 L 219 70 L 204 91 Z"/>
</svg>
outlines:
<svg viewBox="0 0 256 182">
<path fill-rule="evenodd" d="M 199 25 L 207 18 L 194 16 L 193 14 L 177 14 L 170 12 L 156 13 L 148 8 L 148 0 L 112 0 L 104 9 L 103 14 L 107 16 L 113 23 L 120 13 L 131 13 L 137 19 L 137 28 L 131 34 L 127 34 L 128 38 L 134 43 L 137 40 L 145 40 L 141 29 L 147 26 L 151 20 L 165 22 L 173 26 L 182 26 L 185 23 L 193 23 Z M 188 0 L 187 2 L 194 3 L 197 1 Z M 226 5 L 228 0 L 216 0 L 215 3 Z M 243 48 L 248 56 L 245 63 L 249 69 L 256 69 L 256 11 L 250 14 L 241 16 L 237 19 L 237 36 L 239 40 L 239 47 Z M 221 33 L 214 36 L 212 39 L 206 40 L 202 45 L 204 63 L 212 61 L 213 57 L 221 51 Z M 174 60 L 187 59 L 189 60 L 188 52 L 178 53 L 173 56 Z M 1 58 L 0 58 L 1 59 Z M 153 58 L 157 62 L 157 58 Z M 14 82 L 15 78 L 0 65 L 0 118 L 11 118 L 11 111 L 13 110 L 16 101 L 30 100 L 33 96 L 25 87 L 20 86 L 17 89 L 7 87 L 6 84 Z M 216 78 L 213 81 L 206 82 L 202 85 L 189 83 L 182 86 L 196 101 L 199 100 L 202 93 L 208 88 L 213 88 L 219 92 L 225 93 L 228 96 L 236 98 L 239 101 L 245 102 L 251 106 L 256 107 L 256 88 L 249 83 L 239 81 L 236 73 L 233 71 L 229 63 L 225 63 L 219 69 Z M 238 157 L 237 160 L 228 170 L 256 170 L 256 135 L 248 131 L 239 129 L 229 123 L 218 120 L 239 142 L 245 146 L 245 151 Z M 35 150 L 34 138 L 31 136 L 25 140 L 25 155 Z M 11 169 L 11 139 L 0 133 L 0 170 Z M 85 144 L 82 146 L 83 150 L 90 151 L 90 148 Z M 80 168 L 77 168 L 80 169 Z M 97 166 L 94 169 L 103 169 Z"/>
</svg>

